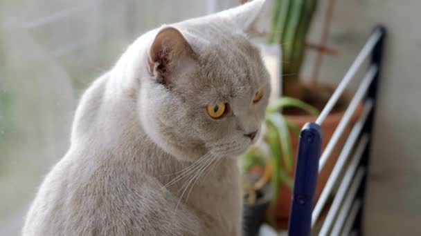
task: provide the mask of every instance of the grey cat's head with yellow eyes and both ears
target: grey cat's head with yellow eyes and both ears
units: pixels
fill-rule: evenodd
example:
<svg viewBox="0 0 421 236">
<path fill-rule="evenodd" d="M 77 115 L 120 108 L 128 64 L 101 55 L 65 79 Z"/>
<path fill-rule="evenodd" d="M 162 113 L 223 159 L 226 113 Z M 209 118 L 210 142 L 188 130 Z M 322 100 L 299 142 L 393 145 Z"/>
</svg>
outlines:
<svg viewBox="0 0 421 236">
<path fill-rule="evenodd" d="M 271 88 L 250 35 L 264 6 L 255 0 L 155 30 L 138 110 L 145 132 L 166 152 L 233 157 L 256 141 Z"/>
</svg>

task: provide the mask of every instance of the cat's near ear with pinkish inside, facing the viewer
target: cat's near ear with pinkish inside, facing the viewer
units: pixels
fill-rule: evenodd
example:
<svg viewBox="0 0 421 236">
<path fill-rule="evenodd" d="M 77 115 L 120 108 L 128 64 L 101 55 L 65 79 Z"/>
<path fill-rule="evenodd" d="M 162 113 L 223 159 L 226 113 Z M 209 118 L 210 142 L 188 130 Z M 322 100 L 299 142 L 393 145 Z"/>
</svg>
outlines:
<svg viewBox="0 0 421 236">
<path fill-rule="evenodd" d="M 159 83 L 173 83 L 195 64 L 192 49 L 179 30 L 173 27 L 159 30 L 147 60 L 150 74 L 159 79 Z"/>
</svg>

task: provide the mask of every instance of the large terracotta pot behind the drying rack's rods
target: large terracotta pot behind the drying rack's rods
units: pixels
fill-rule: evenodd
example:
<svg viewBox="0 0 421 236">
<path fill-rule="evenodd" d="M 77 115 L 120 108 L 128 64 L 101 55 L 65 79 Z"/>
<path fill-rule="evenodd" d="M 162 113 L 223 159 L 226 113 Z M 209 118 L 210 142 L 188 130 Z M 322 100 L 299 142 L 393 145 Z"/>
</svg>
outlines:
<svg viewBox="0 0 421 236">
<path fill-rule="evenodd" d="M 345 92 L 343 95 L 343 97 L 348 100 L 348 103 L 350 99 L 352 99 L 352 96 L 353 94 L 350 92 Z M 357 107 L 357 110 L 355 110 L 354 114 L 352 115 L 352 119 L 350 120 L 346 130 L 341 135 L 341 138 L 339 139 L 337 145 L 332 151 L 332 154 L 328 158 L 328 161 L 326 162 L 325 166 L 323 166 L 323 170 L 321 170 L 321 173 L 319 174 L 319 177 L 317 180 L 314 203 L 316 203 L 316 201 L 319 199 L 321 192 L 326 184 L 326 181 L 328 181 L 328 177 L 330 173 L 332 172 L 334 164 L 337 161 L 337 157 L 342 149 L 343 142 L 346 140 L 346 137 L 348 137 L 350 133 L 350 129 L 352 128 L 352 125 L 355 124 L 357 119 L 361 116 L 362 110 L 363 110 L 363 106 L 362 104 L 359 104 L 359 106 Z M 323 122 L 321 126 L 323 129 L 322 153 L 325 147 L 328 145 L 328 142 L 330 141 L 330 138 L 332 137 L 334 130 L 337 128 L 339 121 L 341 121 L 341 118 L 343 117 L 344 112 L 345 110 L 332 112 L 330 115 L 328 115 L 328 117 Z M 303 127 L 304 124 L 306 124 L 307 122 L 314 122 L 316 119 L 315 117 L 312 117 L 310 115 L 285 115 L 285 117 L 289 121 L 296 124 L 298 127 Z M 298 136 L 291 132 L 291 138 L 292 138 L 293 158 L 294 158 L 294 166 L 295 166 L 297 148 L 298 148 Z M 286 169 L 285 164 L 283 164 L 282 168 Z M 294 168 L 293 170 L 289 171 L 288 174 L 290 177 L 292 177 L 292 179 L 294 179 Z M 290 189 L 286 184 L 281 184 L 278 204 L 275 210 L 277 228 L 280 228 L 280 229 L 287 228 L 288 219 L 289 219 L 289 209 L 291 206 L 291 199 L 292 199 L 292 189 Z"/>
</svg>

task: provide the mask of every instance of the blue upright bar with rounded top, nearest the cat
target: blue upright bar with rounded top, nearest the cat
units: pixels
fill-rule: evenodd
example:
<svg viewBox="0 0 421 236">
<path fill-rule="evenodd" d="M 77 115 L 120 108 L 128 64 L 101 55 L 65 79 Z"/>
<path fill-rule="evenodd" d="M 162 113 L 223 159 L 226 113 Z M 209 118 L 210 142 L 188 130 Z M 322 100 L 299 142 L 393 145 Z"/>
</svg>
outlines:
<svg viewBox="0 0 421 236">
<path fill-rule="evenodd" d="M 311 232 L 322 136 L 321 127 L 315 123 L 305 124 L 300 132 L 292 206 L 289 214 L 289 236 L 308 236 Z"/>
</svg>

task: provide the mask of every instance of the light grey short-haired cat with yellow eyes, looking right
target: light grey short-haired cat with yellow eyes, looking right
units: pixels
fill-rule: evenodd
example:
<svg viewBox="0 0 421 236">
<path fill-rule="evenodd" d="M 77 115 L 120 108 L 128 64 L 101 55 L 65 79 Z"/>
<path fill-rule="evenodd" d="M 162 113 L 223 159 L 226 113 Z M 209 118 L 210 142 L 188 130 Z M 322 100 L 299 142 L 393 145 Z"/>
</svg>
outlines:
<svg viewBox="0 0 421 236">
<path fill-rule="evenodd" d="M 84 92 L 24 236 L 241 235 L 238 156 L 271 92 L 265 0 L 145 33 Z"/>
</svg>

